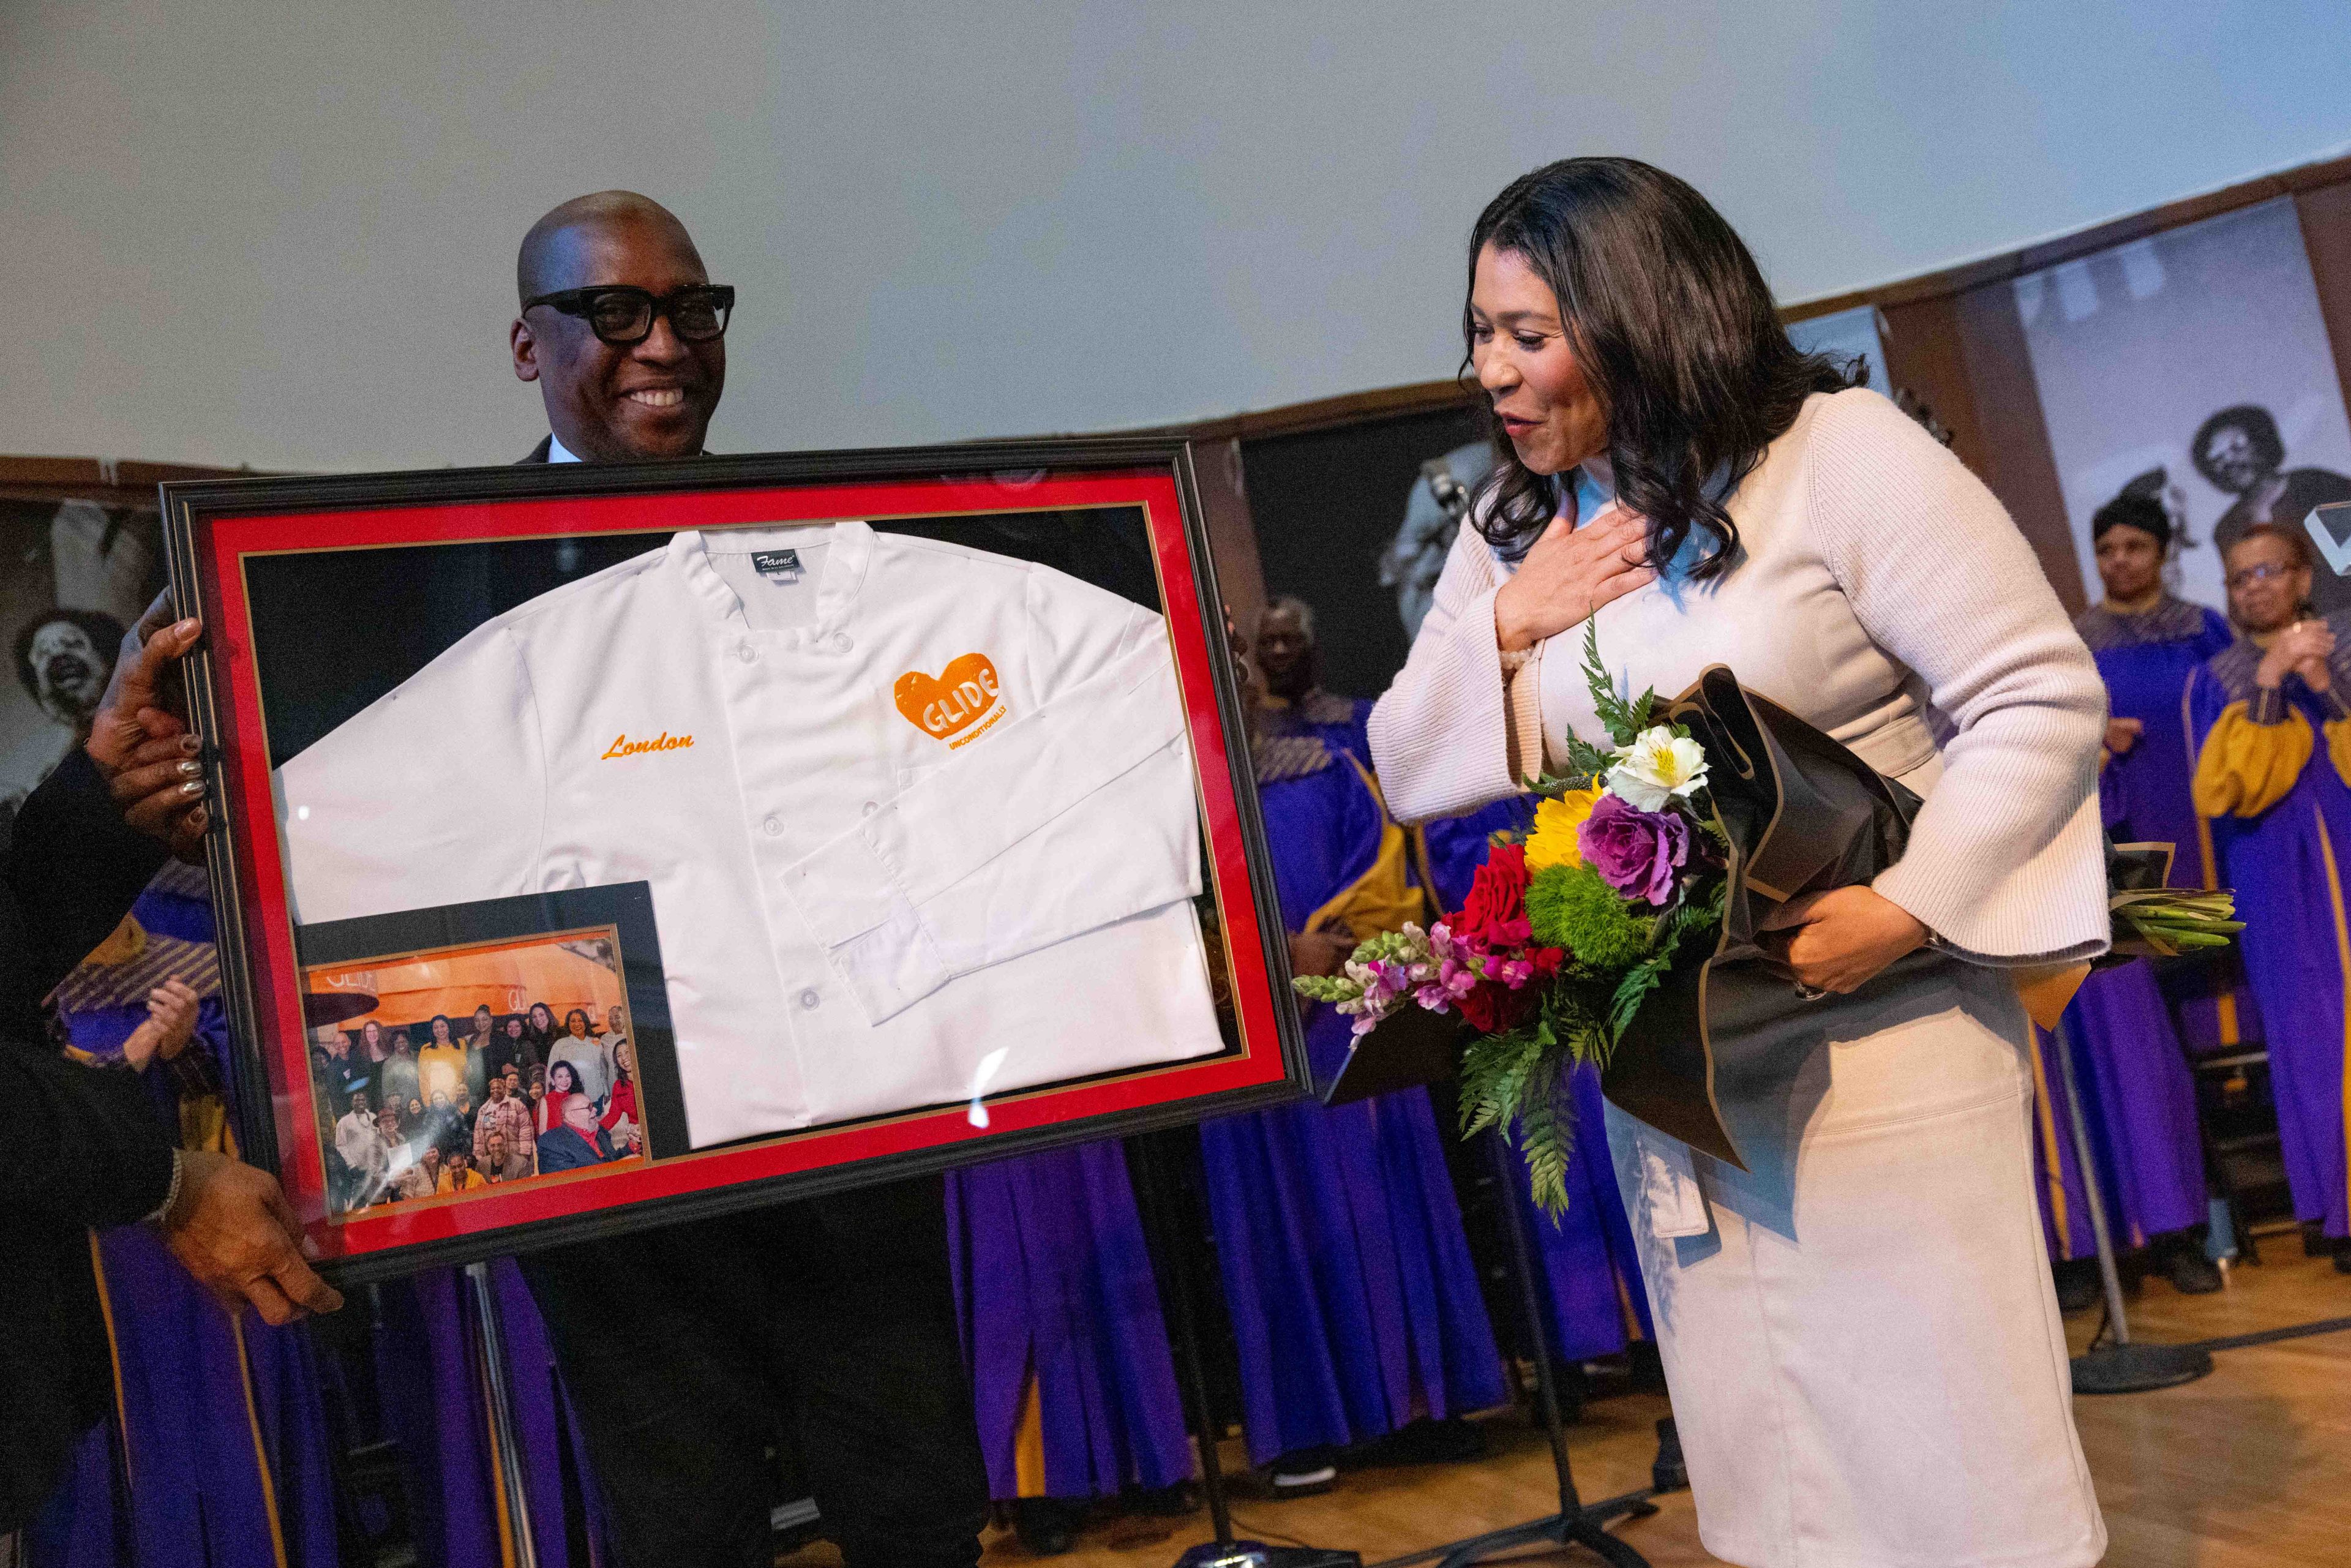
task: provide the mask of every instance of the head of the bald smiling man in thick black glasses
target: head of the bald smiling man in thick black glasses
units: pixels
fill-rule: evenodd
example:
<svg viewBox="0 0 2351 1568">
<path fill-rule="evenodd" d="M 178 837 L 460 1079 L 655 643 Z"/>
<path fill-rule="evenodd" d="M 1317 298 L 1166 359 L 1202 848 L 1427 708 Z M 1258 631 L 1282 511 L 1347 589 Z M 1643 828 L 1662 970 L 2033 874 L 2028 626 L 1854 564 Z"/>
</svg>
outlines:
<svg viewBox="0 0 2351 1568">
<path fill-rule="evenodd" d="M 686 226 L 632 190 L 581 195 L 531 223 L 515 256 L 515 376 L 552 433 L 527 463 L 691 458 L 726 388 L 734 289 Z"/>
</svg>

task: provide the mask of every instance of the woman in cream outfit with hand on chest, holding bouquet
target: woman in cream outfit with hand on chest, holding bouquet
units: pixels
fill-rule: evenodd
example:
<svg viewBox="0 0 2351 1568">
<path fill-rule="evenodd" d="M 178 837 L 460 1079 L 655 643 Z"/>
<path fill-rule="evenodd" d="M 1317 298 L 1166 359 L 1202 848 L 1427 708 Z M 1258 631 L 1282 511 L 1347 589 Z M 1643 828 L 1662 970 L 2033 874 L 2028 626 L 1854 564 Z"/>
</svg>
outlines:
<svg viewBox="0 0 2351 1568">
<path fill-rule="evenodd" d="M 1925 797 L 1893 870 L 1775 938 L 1822 997 L 1733 1041 L 1766 1067 L 1721 1107 L 1749 1171 L 1608 1110 L 1700 1537 L 1749 1568 L 2097 1563 L 2005 973 L 2106 943 L 2090 654 L 1998 501 L 1789 346 L 1681 181 L 1552 165 L 1469 249 L 1507 444 L 1371 719 L 1396 816 L 1601 733 L 1587 618 L 1625 689 L 1730 665 Z"/>
</svg>

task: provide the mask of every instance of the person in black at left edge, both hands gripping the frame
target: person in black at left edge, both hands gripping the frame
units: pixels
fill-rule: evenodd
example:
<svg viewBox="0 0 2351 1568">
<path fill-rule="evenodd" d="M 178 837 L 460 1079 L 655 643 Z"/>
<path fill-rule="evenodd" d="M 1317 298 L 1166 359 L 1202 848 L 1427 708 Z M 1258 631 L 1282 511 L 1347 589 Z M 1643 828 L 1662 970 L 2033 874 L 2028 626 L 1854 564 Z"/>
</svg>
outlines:
<svg viewBox="0 0 2351 1568">
<path fill-rule="evenodd" d="M 193 736 L 158 682 L 195 646 L 181 621 L 125 661 L 89 741 L 24 802 L 0 891 L 0 1537 L 56 1483 L 113 1403 L 92 1227 L 146 1218 L 230 1309 L 270 1324 L 343 1300 L 303 1262 L 275 1178 L 226 1154 L 181 1152 L 127 1067 L 71 1063 L 45 1044 L 42 997 L 96 947 L 207 809 Z"/>
</svg>

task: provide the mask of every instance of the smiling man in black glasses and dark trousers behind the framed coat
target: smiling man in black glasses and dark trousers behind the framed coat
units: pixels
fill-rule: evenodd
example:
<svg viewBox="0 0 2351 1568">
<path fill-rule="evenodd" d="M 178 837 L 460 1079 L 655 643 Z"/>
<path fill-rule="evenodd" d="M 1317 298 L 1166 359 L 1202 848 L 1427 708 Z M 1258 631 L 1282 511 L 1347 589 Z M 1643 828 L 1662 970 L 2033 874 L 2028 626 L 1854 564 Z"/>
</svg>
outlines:
<svg viewBox="0 0 2351 1568">
<path fill-rule="evenodd" d="M 625 190 L 564 202 L 515 268 L 515 374 L 550 437 L 527 463 L 701 454 L 731 289 Z M 522 1260 L 628 1568 L 766 1568 L 792 1427 L 849 1568 L 980 1561 L 987 1472 L 955 1335 L 938 1178 Z"/>
</svg>

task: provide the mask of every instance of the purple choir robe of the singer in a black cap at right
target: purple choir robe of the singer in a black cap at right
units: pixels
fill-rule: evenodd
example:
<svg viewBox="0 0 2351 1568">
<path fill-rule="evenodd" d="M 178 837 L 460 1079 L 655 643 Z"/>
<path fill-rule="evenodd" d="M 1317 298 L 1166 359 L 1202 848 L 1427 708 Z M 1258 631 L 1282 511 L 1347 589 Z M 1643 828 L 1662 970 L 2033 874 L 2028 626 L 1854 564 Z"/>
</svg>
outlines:
<svg viewBox="0 0 2351 1568">
<path fill-rule="evenodd" d="M 2106 682 L 2106 705 L 2137 719 L 2142 733 L 2099 771 L 2099 811 L 2116 842 L 2172 844 L 2172 886 L 2217 886 L 2210 835 L 2196 816 L 2196 757 L 2186 733 L 2186 686 L 2219 649 L 2229 623 L 2210 609 L 2165 597 L 2151 611 L 2121 616 L 2085 611 L 2074 630 L 2090 644 Z M 2219 985 L 2210 976 L 2224 973 Z M 2186 1229 L 2205 1218 L 2203 1143 L 2196 1124 L 2196 1084 L 2182 1053 L 2177 1018 L 2203 1048 L 2236 1046 L 2241 1004 L 2226 971 L 2198 969 L 2175 985 L 2170 1004 L 2146 964 L 2092 973 L 2064 1013 L 2074 1077 L 2090 1126 L 2099 1199 L 2118 1248 Z M 2041 1222 L 2055 1258 L 2088 1258 L 2095 1248 L 2090 1208 L 2081 1187 L 2071 1110 L 2057 1037 L 2034 1030 Z"/>
</svg>

